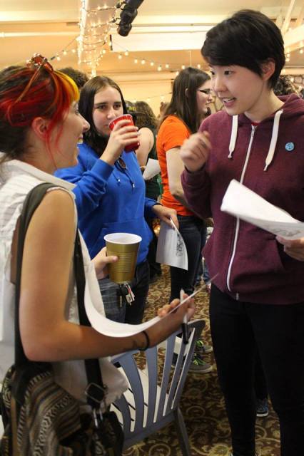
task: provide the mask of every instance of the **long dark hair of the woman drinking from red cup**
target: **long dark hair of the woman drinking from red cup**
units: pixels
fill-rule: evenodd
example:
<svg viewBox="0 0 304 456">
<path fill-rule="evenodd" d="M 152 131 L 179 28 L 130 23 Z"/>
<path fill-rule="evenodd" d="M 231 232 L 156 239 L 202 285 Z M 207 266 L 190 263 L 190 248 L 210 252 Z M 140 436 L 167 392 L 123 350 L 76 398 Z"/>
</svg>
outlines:
<svg viewBox="0 0 304 456">
<path fill-rule="evenodd" d="M 108 144 L 108 137 L 102 136 L 96 130 L 96 127 L 93 122 L 93 105 L 94 98 L 99 90 L 102 90 L 106 87 L 113 87 L 118 90 L 121 95 L 121 101 L 123 103 L 123 114 L 127 114 L 126 102 L 123 99 L 123 94 L 121 89 L 116 84 L 113 79 L 107 78 L 106 76 L 95 76 L 91 78 L 81 89 L 80 98 L 78 102 L 79 113 L 86 119 L 90 124 L 90 130 L 83 133 L 83 141 L 86 142 L 90 147 L 92 147 L 98 154 L 102 154 L 105 150 L 106 145 Z"/>
</svg>

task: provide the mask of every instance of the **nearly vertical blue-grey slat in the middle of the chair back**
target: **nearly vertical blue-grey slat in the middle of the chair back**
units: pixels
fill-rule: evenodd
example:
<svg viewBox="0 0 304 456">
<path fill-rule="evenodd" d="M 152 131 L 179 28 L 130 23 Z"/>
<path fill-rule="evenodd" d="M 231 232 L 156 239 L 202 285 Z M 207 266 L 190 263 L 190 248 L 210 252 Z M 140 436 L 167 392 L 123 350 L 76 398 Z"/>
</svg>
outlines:
<svg viewBox="0 0 304 456">
<path fill-rule="evenodd" d="M 147 370 L 148 370 L 148 414 L 146 427 L 153 424 L 156 412 L 156 400 L 158 396 L 157 378 L 158 378 L 158 349 L 157 346 L 146 351 Z"/>
</svg>

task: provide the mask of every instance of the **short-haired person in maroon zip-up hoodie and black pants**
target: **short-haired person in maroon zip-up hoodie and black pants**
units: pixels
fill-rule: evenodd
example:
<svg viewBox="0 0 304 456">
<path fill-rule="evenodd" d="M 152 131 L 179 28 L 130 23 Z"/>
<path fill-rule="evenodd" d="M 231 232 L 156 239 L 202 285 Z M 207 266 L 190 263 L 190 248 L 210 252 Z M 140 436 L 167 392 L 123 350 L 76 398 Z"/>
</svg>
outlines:
<svg viewBox="0 0 304 456">
<path fill-rule="evenodd" d="M 278 98 L 285 63 L 277 26 L 238 11 L 208 31 L 202 48 L 225 110 L 181 147 L 188 204 L 213 217 L 204 249 L 211 331 L 233 456 L 255 455 L 255 347 L 280 420 L 281 455 L 304 454 L 304 238 L 287 241 L 221 212 L 230 180 L 304 221 L 304 101 Z"/>
</svg>

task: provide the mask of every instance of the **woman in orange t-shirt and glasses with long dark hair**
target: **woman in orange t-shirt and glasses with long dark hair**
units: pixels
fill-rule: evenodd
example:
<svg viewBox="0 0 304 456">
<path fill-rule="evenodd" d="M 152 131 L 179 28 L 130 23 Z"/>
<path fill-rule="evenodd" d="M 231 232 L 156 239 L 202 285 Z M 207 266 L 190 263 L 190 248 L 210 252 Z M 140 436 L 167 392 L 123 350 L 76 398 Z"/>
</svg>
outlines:
<svg viewBox="0 0 304 456">
<path fill-rule="evenodd" d="M 168 104 L 158 130 L 156 148 L 161 180 L 162 204 L 176 209 L 179 231 L 186 244 L 188 271 L 171 266 L 171 299 L 180 296 L 181 288 L 191 294 L 196 271 L 201 261 L 201 239 L 206 235 L 203 219 L 188 209 L 181 187 L 183 162 L 179 149 L 192 133 L 196 133 L 211 102 L 210 76 L 197 68 L 181 71 L 173 83 L 171 102 Z"/>
</svg>

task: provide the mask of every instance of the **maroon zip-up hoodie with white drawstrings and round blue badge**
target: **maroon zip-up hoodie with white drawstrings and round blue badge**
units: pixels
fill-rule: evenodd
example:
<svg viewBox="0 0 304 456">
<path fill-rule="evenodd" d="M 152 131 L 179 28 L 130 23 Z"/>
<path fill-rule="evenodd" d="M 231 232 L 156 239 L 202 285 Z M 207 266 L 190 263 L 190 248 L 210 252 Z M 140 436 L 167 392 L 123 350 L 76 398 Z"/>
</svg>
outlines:
<svg viewBox="0 0 304 456">
<path fill-rule="evenodd" d="M 220 208 L 236 179 L 304 221 L 304 100 L 295 94 L 280 99 L 283 107 L 258 125 L 224 111 L 204 120 L 200 130 L 209 132 L 212 144 L 208 161 L 182 174 L 193 212 L 214 219 L 203 250 L 210 276 L 218 274 L 214 284 L 235 299 L 260 304 L 304 301 L 304 261 L 285 254 L 274 234 Z"/>
</svg>

